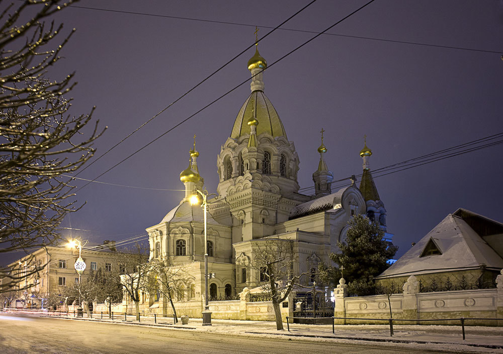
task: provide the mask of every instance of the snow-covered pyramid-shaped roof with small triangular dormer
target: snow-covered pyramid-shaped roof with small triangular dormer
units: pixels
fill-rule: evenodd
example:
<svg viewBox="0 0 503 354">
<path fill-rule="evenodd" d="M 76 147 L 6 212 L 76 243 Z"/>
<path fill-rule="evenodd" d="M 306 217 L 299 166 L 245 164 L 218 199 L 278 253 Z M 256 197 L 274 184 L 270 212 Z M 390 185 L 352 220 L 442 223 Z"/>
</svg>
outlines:
<svg viewBox="0 0 503 354">
<path fill-rule="evenodd" d="M 442 254 L 421 257 L 430 240 Z M 479 268 L 482 263 L 487 268 L 503 268 L 502 256 L 464 218 L 449 214 L 377 278 Z"/>
</svg>

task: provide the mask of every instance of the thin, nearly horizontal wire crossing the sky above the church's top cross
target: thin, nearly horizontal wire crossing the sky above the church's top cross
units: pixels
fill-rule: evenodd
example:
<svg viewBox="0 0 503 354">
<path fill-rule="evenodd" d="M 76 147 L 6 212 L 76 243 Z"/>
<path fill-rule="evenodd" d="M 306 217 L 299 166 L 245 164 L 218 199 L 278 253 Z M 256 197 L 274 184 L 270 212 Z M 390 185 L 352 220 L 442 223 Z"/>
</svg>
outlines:
<svg viewBox="0 0 503 354">
<path fill-rule="evenodd" d="M 23 1 L 23 0 L 21 0 L 21 1 Z M 125 11 L 125 10 L 100 9 L 100 8 L 92 8 L 92 7 L 86 7 L 86 6 L 70 5 L 68 7 L 69 8 L 86 9 L 86 10 L 96 10 L 96 11 L 122 13 L 122 14 L 129 14 L 129 15 L 141 15 L 141 16 L 152 16 L 152 17 L 169 18 L 169 19 L 176 19 L 176 20 L 188 20 L 188 21 L 218 23 L 218 24 L 224 24 L 224 25 L 246 26 L 246 27 L 255 27 L 256 26 L 256 25 L 251 25 L 251 24 L 246 24 L 246 23 L 239 23 L 239 22 L 216 21 L 216 20 L 197 19 L 197 18 L 192 18 L 192 17 L 181 17 L 181 16 L 149 14 L 149 13 L 141 13 L 141 12 Z M 271 26 L 259 26 L 259 27 L 260 28 L 274 28 L 274 27 L 271 27 Z M 319 33 L 319 32 L 316 32 L 316 31 L 299 30 L 299 29 L 294 29 L 294 28 L 280 28 L 280 30 L 282 30 L 282 31 L 292 31 L 292 32 L 302 32 L 302 33 Z M 458 50 L 468 50 L 468 51 L 475 51 L 475 52 L 501 54 L 501 51 L 485 50 L 485 49 L 473 49 L 473 48 L 457 47 L 457 46 L 450 46 L 450 45 L 428 44 L 428 43 L 410 42 L 410 41 L 399 41 L 399 40 L 393 40 L 393 39 L 384 39 L 384 38 L 376 38 L 376 37 L 364 37 L 364 36 L 352 36 L 352 35 L 337 34 L 337 33 L 324 33 L 324 34 L 325 35 L 329 35 L 329 36 L 367 39 L 367 40 L 380 41 L 380 42 L 411 44 L 411 45 L 421 45 L 421 46 L 427 46 L 427 47 L 458 49 Z"/>
</svg>

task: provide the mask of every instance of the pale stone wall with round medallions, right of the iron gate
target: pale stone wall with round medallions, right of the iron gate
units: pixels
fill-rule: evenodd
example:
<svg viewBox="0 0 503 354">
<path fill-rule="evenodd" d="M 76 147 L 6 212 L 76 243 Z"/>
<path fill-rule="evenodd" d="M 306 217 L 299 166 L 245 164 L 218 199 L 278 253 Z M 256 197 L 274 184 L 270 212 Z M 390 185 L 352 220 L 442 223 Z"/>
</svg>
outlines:
<svg viewBox="0 0 503 354">
<path fill-rule="evenodd" d="M 419 282 L 413 275 L 403 284 L 402 294 L 348 297 L 347 285 L 341 278 L 334 289 L 336 305 L 334 317 L 366 319 L 456 319 L 442 322 L 409 322 L 403 324 L 459 324 L 463 317 L 467 325 L 503 326 L 503 270 L 496 278 L 496 289 L 477 289 L 419 293 Z M 391 307 L 391 314 L 390 314 Z M 480 320 L 470 318 L 501 318 L 501 320 Z M 336 324 L 385 323 L 376 320 L 342 320 Z M 398 321 L 398 323 L 400 323 Z"/>
</svg>

